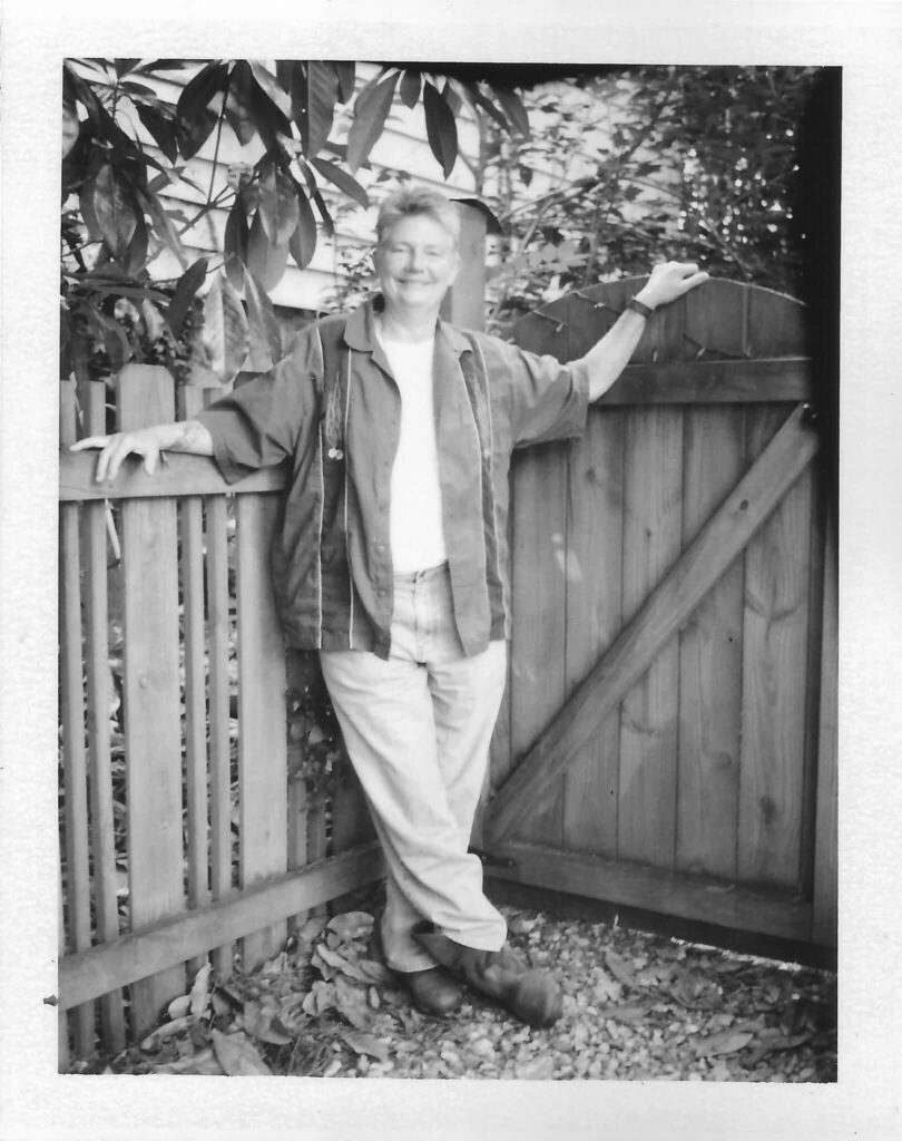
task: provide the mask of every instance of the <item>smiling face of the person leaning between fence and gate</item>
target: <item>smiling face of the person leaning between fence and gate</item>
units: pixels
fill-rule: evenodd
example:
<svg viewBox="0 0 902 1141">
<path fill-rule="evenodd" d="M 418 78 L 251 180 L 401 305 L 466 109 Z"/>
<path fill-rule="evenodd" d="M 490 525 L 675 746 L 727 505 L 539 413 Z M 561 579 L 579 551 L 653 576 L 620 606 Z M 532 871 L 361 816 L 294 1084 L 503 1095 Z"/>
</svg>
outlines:
<svg viewBox="0 0 902 1141">
<path fill-rule="evenodd" d="M 454 238 L 426 215 L 411 215 L 392 226 L 374 260 L 385 308 L 395 313 L 438 313 L 460 268 Z"/>
</svg>

